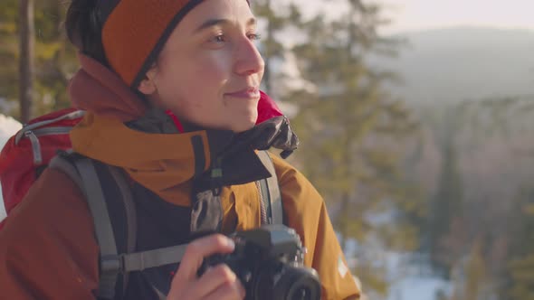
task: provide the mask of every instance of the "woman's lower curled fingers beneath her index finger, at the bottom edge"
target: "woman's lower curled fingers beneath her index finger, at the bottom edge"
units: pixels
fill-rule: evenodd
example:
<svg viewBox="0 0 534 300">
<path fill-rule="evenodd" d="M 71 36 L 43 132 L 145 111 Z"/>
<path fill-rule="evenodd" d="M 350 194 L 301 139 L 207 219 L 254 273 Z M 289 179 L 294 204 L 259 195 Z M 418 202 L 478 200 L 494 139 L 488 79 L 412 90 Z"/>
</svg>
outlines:
<svg viewBox="0 0 534 300">
<path fill-rule="evenodd" d="M 244 288 L 230 267 L 221 264 L 209 268 L 195 282 L 193 299 L 243 299 Z"/>
</svg>

